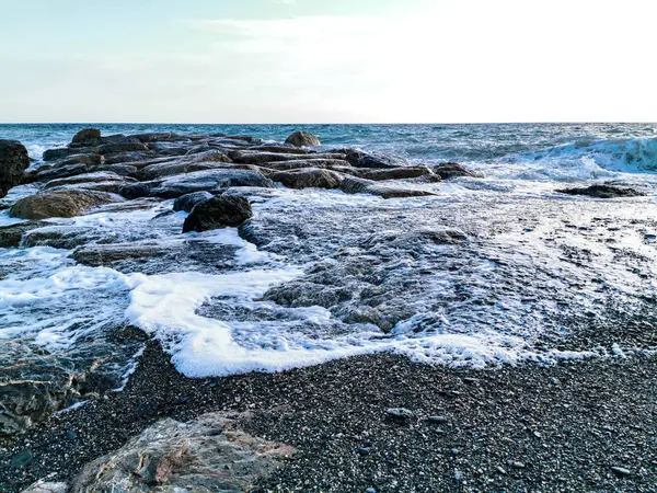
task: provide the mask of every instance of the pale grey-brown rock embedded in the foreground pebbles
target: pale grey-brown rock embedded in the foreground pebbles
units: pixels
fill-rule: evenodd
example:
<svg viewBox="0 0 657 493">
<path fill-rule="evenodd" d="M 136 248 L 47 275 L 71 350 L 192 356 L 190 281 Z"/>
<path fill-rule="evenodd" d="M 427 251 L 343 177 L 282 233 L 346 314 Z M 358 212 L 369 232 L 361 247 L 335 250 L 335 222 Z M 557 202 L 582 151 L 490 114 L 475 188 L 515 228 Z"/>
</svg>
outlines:
<svg viewBox="0 0 657 493">
<path fill-rule="evenodd" d="M 249 491 L 295 449 L 249 435 L 238 419 L 211 413 L 188 423 L 162 420 L 87 465 L 71 490 L 110 492 L 120 484 L 125 492 Z"/>
</svg>

